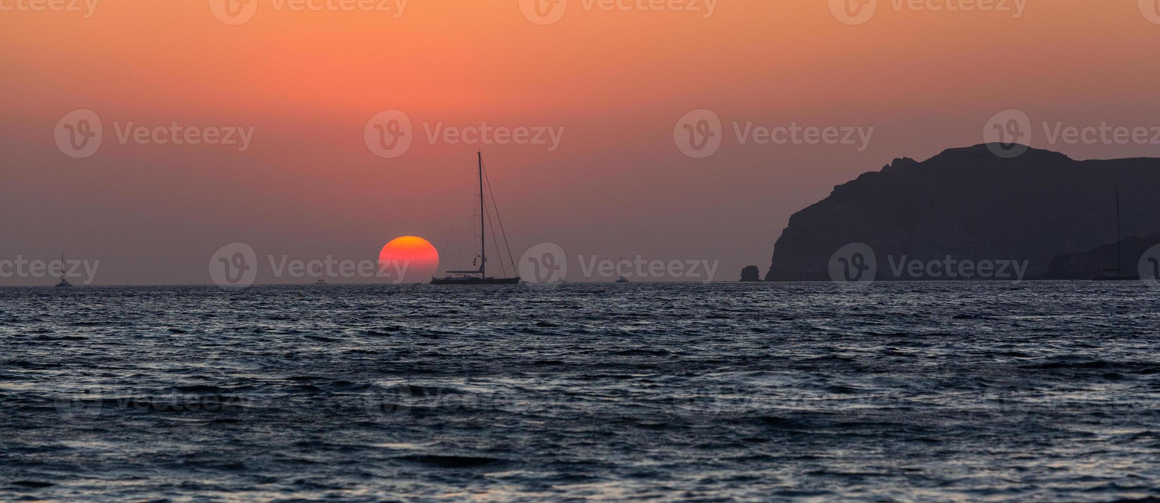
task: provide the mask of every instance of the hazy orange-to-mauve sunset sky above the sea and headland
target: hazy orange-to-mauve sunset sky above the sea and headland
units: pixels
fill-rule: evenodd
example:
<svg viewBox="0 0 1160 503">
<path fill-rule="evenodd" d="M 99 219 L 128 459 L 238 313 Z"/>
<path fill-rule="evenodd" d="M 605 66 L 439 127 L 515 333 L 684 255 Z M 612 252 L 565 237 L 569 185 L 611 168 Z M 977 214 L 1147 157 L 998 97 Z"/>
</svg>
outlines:
<svg viewBox="0 0 1160 503">
<path fill-rule="evenodd" d="M 264 283 L 302 282 L 270 277 L 268 255 L 375 260 L 401 235 L 445 258 L 473 214 L 479 150 L 516 258 L 551 242 L 568 279 L 606 280 L 581 277 L 577 255 L 640 255 L 720 261 L 715 279 L 735 280 L 745 265 L 763 274 L 789 216 L 834 185 L 981 143 L 1005 109 L 1028 114 L 1037 147 L 1160 156 L 1155 144 L 1051 145 L 1042 126 L 1160 126 L 1160 14 L 1137 0 L 1008 0 L 1002 12 L 879 0 L 861 24 L 826 0 L 720 0 L 711 15 L 702 0 L 568 0 L 550 24 L 519 0 L 367 12 L 251 1 L 253 19 L 231 25 L 206 0 L 100 0 L 92 12 L 0 0 L 0 258 L 100 260 L 103 285 L 209 283 L 206 262 L 231 242 L 258 251 Z M 392 109 L 412 122 L 412 145 L 385 159 L 364 129 Z M 698 109 L 724 124 L 703 159 L 674 141 Z M 82 159 L 55 141 L 74 110 L 103 125 Z M 551 151 L 426 132 L 484 122 L 563 132 Z M 733 124 L 748 122 L 873 130 L 865 145 L 740 145 Z M 245 151 L 122 144 L 130 123 L 253 137 Z"/>
</svg>

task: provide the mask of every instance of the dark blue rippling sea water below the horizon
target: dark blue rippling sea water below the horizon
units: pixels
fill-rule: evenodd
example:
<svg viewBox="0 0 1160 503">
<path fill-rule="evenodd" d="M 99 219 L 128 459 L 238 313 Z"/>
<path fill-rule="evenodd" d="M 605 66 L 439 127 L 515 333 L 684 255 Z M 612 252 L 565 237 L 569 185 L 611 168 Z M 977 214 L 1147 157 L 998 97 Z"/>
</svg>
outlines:
<svg viewBox="0 0 1160 503">
<path fill-rule="evenodd" d="M 0 500 L 1160 497 L 1137 282 L 0 289 Z"/>
</svg>

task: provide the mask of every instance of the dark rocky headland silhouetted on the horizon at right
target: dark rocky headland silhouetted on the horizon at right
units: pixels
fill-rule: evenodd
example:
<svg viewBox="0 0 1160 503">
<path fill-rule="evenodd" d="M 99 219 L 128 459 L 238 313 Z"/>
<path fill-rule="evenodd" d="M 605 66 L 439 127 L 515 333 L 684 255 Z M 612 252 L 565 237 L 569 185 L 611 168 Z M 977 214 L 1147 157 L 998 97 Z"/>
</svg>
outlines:
<svg viewBox="0 0 1160 503">
<path fill-rule="evenodd" d="M 1038 148 L 1003 159 L 987 145 L 896 159 L 790 217 L 766 280 L 829 280 L 831 257 L 855 242 L 875 251 L 879 280 L 937 279 L 898 277 L 887 262 L 948 256 L 1027 261 L 1029 277 L 1046 277 L 1058 255 L 1115 243 L 1117 188 L 1123 235 L 1160 232 L 1160 159 L 1076 161 Z"/>
</svg>

